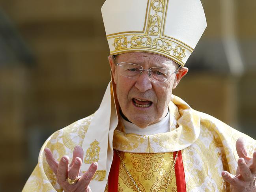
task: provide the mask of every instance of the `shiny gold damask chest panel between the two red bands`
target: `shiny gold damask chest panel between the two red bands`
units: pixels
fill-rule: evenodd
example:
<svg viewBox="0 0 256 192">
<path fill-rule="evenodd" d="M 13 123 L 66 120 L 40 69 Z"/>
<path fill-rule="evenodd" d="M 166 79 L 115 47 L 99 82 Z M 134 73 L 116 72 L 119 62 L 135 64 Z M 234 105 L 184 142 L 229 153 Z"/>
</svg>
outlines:
<svg viewBox="0 0 256 192">
<path fill-rule="evenodd" d="M 173 153 L 120 153 L 127 170 L 142 192 L 164 191 L 172 170 Z M 137 191 L 129 175 L 119 168 L 118 192 Z M 177 192 L 175 171 L 167 191 Z"/>
</svg>

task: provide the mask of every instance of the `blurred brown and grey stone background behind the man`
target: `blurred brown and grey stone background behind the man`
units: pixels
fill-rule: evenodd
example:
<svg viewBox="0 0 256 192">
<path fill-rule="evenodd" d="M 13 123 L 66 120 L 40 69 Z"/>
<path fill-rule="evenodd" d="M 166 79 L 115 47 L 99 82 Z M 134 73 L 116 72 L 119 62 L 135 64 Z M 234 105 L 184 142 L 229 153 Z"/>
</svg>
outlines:
<svg viewBox="0 0 256 192">
<path fill-rule="evenodd" d="M 47 137 L 99 107 L 104 1 L 0 0 L 0 191 L 21 191 Z M 207 28 L 174 94 L 256 139 L 256 1 L 202 4 Z"/>
</svg>

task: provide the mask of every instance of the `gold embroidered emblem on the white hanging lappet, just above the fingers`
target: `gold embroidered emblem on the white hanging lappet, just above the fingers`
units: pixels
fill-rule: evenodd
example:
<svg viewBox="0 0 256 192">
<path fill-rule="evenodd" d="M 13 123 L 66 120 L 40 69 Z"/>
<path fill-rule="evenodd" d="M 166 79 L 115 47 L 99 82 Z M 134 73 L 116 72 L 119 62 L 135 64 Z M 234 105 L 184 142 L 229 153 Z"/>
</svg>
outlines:
<svg viewBox="0 0 256 192">
<path fill-rule="evenodd" d="M 99 147 L 99 142 L 94 140 L 90 144 L 90 147 L 86 151 L 86 156 L 84 158 L 84 162 L 86 164 L 91 164 L 93 162 L 98 162 L 99 160 L 99 151 L 101 150 L 101 147 Z"/>
</svg>

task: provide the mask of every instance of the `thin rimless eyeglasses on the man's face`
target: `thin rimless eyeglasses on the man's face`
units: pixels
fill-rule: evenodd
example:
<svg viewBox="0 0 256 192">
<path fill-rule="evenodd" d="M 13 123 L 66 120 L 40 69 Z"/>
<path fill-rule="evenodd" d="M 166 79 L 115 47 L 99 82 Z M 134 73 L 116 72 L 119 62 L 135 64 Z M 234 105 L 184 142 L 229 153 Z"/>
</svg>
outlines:
<svg viewBox="0 0 256 192">
<path fill-rule="evenodd" d="M 143 69 L 142 66 L 133 63 L 121 62 L 117 63 L 117 65 L 120 68 L 120 75 L 122 76 L 136 79 L 143 73 L 143 71 L 148 71 L 149 78 L 154 82 L 160 83 L 167 82 L 168 80 L 170 80 L 170 74 L 177 73 L 179 71 L 179 68 L 181 67 L 179 66 L 179 68 L 176 71 L 170 72 L 169 69 L 161 67 L 151 67 L 147 70 Z"/>
</svg>

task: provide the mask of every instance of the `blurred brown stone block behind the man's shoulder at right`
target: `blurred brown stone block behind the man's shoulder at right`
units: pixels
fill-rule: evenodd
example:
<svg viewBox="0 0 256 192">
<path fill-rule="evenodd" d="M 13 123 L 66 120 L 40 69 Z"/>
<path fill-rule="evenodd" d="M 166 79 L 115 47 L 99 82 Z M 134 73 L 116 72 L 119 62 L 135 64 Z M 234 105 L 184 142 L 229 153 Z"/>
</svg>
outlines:
<svg viewBox="0 0 256 192">
<path fill-rule="evenodd" d="M 236 82 L 226 75 L 188 74 L 173 94 L 194 110 L 204 112 L 231 126 L 237 126 Z"/>
</svg>

